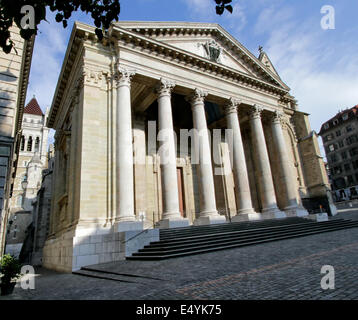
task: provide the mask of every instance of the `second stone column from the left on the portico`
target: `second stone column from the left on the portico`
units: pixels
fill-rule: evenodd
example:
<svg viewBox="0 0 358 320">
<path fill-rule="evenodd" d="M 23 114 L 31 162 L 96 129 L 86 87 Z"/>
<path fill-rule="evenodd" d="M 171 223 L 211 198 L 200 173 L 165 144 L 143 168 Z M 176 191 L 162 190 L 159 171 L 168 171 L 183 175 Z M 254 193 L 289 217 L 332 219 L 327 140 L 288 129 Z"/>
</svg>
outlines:
<svg viewBox="0 0 358 320">
<path fill-rule="evenodd" d="M 176 165 L 176 140 L 174 137 L 171 92 L 175 83 L 161 79 L 156 88 L 158 93 L 158 140 L 162 174 L 163 216 L 161 228 L 189 225 L 179 210 L 178 177 Z"/>
</svg>

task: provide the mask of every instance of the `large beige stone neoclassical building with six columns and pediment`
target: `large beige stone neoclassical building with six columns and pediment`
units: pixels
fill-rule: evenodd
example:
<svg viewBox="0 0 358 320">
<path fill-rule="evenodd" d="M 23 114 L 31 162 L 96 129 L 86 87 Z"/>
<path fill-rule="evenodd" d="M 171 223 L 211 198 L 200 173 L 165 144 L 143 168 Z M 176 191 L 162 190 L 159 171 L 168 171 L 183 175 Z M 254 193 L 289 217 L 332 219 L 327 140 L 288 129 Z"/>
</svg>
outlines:
<svg viewBox="0 0 358 320">
<path fill-rule="evenodd" d="M 99 43 L 76 23 L 48 117 L 44 265 L 123 259 L 157 227 L 334 209 L 317 135 L 289 91 L 265 52 L 217 24 L 120 22 Z M 129 241 L 143 226 L 155 228 Z"/>
</svg>

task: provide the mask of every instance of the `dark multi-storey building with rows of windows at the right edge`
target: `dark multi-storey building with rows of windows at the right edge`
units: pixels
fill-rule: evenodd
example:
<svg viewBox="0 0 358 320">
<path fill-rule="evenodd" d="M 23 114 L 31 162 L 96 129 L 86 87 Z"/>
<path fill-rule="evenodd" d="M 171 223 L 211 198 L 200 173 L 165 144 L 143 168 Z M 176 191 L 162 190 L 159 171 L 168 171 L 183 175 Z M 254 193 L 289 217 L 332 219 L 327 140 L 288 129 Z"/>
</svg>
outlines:
<svg viewBox="0 0 358 320">
<path fill-rule="evenodd" d="M 335 201 L 358 198 L 358 105 L 337 113 L 319 132 Z"/>
</svg>

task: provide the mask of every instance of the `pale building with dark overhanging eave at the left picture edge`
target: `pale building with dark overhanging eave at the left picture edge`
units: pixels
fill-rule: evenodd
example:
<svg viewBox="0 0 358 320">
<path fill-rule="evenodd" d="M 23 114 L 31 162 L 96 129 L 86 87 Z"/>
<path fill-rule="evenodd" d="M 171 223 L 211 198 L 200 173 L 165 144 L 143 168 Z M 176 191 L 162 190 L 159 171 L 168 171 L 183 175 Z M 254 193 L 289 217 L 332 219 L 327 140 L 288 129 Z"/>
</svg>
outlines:
<svg viewBox="0 0 358 320">
<path fill-rule="evenodd" d="M 0 256 L 4 252 L 21 122 L 30 74 L 34 37 L 24 41 L 17 27 L 10 28 L 15 50 L 0 52 Z"/>
</svg>

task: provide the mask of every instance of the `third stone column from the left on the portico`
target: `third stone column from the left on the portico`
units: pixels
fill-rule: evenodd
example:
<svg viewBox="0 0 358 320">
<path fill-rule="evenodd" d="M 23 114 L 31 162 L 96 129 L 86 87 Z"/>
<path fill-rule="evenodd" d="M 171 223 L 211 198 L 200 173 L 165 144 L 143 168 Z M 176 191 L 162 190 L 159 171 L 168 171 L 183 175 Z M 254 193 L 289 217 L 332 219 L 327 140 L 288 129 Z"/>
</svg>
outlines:
<svg viewBox="0 0 358 320">
<path fill-rule="evenodd" d="M 194 221 L 195 225 L 225 222 L 225 217 L 216 210 L 214 177 L 211 161 L 211 150 L 206 124 L 204 99 L 206 92 L 195 89 L 189 98 L 193 112 L 195 152 L 198 155 L 200 216 Z M 192 155 L 193 159 L 193 155 Z"/>
</svg>

